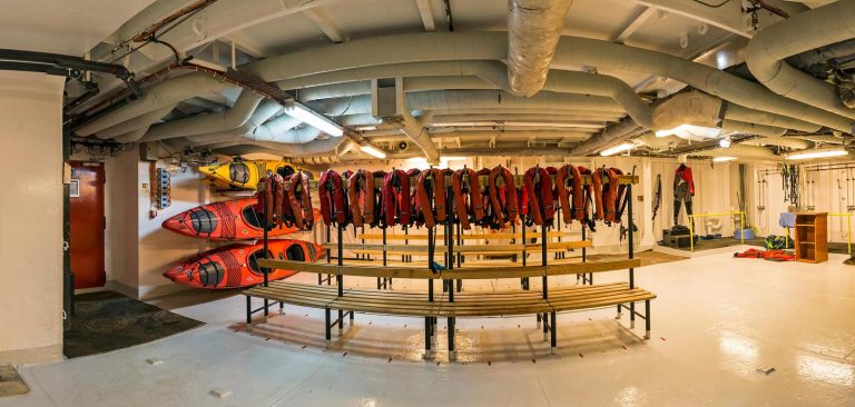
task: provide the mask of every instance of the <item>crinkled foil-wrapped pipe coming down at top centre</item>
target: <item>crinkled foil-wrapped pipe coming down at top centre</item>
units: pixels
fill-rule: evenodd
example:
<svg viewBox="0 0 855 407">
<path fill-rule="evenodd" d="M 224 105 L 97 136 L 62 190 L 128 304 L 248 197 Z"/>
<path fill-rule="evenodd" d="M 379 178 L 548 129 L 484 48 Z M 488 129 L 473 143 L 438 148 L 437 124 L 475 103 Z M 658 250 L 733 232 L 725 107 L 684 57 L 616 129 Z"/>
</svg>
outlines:
<svg viewBox="0 0 855 407">
<path fill-rule="evenodd" d="M 508 82 L 515 96 L 543 88 L 572 0 L 508 1 Z"/>
</svg>

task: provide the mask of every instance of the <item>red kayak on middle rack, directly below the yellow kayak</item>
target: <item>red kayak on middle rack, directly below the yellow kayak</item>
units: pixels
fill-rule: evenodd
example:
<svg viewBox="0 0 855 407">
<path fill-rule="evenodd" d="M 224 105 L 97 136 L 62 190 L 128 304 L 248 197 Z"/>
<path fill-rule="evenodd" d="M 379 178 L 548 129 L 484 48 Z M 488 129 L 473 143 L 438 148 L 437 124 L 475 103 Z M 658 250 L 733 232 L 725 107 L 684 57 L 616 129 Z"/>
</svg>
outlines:
<svg viewBox="0 0 855 407">
<path fill-rule="evenodd" d="M 255 198 L 244 198 L 203 205 L 164 220 L 164 229 L 210 240 L 261 239 L 262 214 L 255 211 Z M 321 216 L 315 210 L 315 219 Z M 299 232 L 296 227 L 273 228 L 269 237 Z"/>
</svg>

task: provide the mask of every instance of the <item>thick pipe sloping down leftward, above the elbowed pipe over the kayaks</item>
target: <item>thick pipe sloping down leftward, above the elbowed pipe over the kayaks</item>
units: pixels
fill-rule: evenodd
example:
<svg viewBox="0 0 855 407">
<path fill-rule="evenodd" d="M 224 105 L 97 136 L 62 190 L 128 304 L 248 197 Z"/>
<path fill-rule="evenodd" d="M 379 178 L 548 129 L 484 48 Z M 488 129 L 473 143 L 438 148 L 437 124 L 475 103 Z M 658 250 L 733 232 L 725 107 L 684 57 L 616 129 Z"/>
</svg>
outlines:
<svg viewBox="0 0 855 407">
<path fill-rule="evenodd" d="M 234 83 L 222 81 L 202 72 L 167 79 L 146 88 L 141 98 L 87 121 L 75 129 L 75 132 L 79 136 L 90 136 L 165 106 L 175 105 L 199 95 L 216 93 L 234 87 Z"/>
</svg>

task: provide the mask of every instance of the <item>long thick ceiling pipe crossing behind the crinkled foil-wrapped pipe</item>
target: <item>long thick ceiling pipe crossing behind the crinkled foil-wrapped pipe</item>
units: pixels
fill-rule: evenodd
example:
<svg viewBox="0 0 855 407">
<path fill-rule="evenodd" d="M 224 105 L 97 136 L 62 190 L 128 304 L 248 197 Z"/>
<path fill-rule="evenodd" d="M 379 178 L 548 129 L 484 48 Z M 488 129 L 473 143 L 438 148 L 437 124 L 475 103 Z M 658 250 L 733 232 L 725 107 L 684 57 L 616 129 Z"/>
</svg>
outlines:
<svg viewBox="0 0 855 407">
<path fill-rule="evenodd" d="M 355 40 L 268 58 L 246 68 L 265 81 L 374 64 L 441 60 L 502 60 L 507 38 L 501 32 L 432 32 Z M 400 52 L 389 52 L 390 49 Z M 313 63 L 304 63 L 311 60 Z M 552 66 L 588 66 L 667 77 L 750 109 L 798 117 L 813 123 L 849 132 L 852 120 L 776 95 L 755 83 L 714 67 L 680 57 L 609 41 L 562 37 Z M 394 77 L 394 76 L 393 76 Z"/>
</svg>

